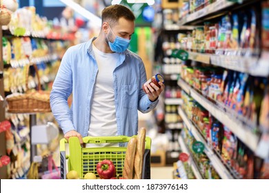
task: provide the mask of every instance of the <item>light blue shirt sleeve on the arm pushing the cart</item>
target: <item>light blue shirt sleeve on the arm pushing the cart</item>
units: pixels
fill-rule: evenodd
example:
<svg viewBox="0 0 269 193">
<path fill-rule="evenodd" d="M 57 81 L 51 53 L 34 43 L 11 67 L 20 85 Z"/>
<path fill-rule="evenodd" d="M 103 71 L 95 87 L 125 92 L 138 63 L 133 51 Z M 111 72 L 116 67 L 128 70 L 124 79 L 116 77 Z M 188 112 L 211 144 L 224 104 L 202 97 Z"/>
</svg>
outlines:
<svg viewBox="0 0 269 193">
<path fill-rule="evenodd" d="M 72 93 L 72 52 L 69 48 L 63 55 L 61 65 L 50 92 L 50 108 L 63 133 L 75 130 L 68 97 Z"/>
</svg>

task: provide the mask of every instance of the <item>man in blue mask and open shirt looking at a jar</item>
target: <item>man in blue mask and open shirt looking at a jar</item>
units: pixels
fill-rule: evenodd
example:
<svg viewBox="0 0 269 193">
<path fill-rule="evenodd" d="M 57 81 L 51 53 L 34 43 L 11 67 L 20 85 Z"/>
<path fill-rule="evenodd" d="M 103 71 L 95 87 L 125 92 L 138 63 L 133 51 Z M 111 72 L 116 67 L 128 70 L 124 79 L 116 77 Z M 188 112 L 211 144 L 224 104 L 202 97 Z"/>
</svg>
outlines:
<svg viewBox="0 0 269 193">
<path fill-rule="evenodd" d="M 125 6 L 102 12 L 97 38 L 70 47 L 64 54 L 50 94 L 50 105 L 64 137 L 132 136 L 138 114 L 156 107 L 164 89 L 142 85 L 146 70 L 137 54 L 127 50 L 135 30 L 135 16 Z M 67 99 L 72 93 L 71 109 Z"/>
</svg>

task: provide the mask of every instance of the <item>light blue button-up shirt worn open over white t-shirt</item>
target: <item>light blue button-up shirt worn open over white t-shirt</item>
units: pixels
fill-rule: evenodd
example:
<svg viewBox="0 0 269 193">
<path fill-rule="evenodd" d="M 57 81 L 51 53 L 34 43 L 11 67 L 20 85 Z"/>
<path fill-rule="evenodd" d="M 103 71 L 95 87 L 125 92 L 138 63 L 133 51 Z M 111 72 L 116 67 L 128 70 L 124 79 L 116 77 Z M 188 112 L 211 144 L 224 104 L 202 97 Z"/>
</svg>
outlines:
<svg viewBox="0 0 269 193">
<path fill-rule="evenodd" d="M 77 130 L 82 136 L 88 135 L 90 106 L 98 72 L 92 50 L 94 39 L 68 48 L 52 85 L 50 106 L 64 134 Z M 159 100 L 151 102 L 143 92 L 146 70 L 141 58 L 130 50 L 121 52 L 113 79 L 117 134 L 135 135 L 138 130 L 137 110 L 149 112 Z M 67 100 L 71 93 L 72 105 L 69 108 Z"/>
</svg>

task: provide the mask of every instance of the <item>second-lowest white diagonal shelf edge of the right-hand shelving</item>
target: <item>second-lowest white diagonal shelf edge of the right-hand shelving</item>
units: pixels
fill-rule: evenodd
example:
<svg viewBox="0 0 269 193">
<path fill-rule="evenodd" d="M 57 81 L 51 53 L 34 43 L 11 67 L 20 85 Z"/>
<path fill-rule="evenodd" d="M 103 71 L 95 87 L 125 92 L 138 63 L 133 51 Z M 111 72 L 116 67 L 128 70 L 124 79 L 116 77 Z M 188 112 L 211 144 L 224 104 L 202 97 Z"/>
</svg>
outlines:
<svg viewBox="0 0 269 193">
<path fill-rule="evenodd" d="M 215 168 L 215 170 L 217 171 L 219 176 L 221 176 L 221 179 L 234 179 L 234 178 L 239 179 L 239 177 L 236 176 L 236 174 L 230 174 L 230 171 L 232 171 L 232 169 L 230 169 L 230 171 L 229 171 L 226 168 L 226 165 L 223 164 L 221 159 L 219 159 L 219 156 L 217 156 L 217 154 L 215 154 L 214 150 L 210 147 L 210 145 L 208 145 L 206 143 L 206 140 L 203 138 L 203 136 L 201 136 L 200 132 L 195 127 L 195 125 L 193 125 L 192 122 L 188 119 L 186 113 L 183 112 L 181 107 L 179 107 L 179 115 L 183 119 L 183 122 L 186 124 L 188 130 L 190 130 L 190 132 L 192 132 L 195 139 L 197 141 L 201 141 L 201 143 L 203 143 L 203 145 L 205 145 L 204 152 L 206 153 L 206 155 L 210 159 L 212 166 Z"/>
</svg>

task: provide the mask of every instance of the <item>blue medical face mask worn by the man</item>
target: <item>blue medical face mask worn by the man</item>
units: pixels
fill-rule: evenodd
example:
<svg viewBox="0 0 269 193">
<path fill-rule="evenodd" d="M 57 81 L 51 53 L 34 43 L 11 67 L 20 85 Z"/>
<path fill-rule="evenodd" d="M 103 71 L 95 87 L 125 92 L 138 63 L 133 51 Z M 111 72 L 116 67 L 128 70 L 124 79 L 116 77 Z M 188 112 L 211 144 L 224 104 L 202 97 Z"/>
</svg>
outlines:
<svg viewBox="0 0 269 193">
<path fill-rule="evenodd" d="M 110 28 L 110 26 L 109 26 Z M 112 29 L 110 28 L 112 34 L 114 34 L 114 32 L 112 31 Z M 118 37 L 114 34 L 114 36 L 116 37 L 116 39 L 114 40 L 114 42 L 110 42 L 108 37 L 108 45 L 110 47 L 110 50 L 112 50 L 113 52 L 124 52 L 129 44 L 130 44 L 130 39 L 124 39 L 122 37 Z"/>
</svg>

